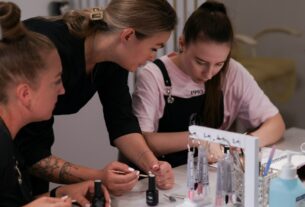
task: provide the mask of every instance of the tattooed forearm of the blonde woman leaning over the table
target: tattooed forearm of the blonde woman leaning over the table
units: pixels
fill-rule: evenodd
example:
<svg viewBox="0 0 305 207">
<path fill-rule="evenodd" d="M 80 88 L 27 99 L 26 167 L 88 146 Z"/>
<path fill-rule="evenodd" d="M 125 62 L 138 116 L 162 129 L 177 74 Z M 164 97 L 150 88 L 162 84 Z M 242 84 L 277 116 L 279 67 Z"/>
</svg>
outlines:
<svg viewBox="0 0 305 207">
<path fill-rule="evenodd" d="M 98 177 L 96 169 L 75 165 L 53 155 L 35 163 L 30 168 L 30 173 L 50 182 L 62 184 L 77 183 Z"/>
</svg>

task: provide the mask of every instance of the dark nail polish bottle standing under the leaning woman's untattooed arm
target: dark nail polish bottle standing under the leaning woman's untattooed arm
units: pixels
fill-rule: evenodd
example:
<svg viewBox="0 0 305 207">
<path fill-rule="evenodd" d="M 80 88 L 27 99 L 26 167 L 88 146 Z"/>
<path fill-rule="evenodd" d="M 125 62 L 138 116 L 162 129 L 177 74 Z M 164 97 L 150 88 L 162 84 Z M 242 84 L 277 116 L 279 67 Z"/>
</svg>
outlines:
<svg viewBox="0 0 305 207">
<path fill-rule="evenodd" d="M 148 190 L 146 191 L 146 203 L 149 206 L 156 206 L 159 203 L 159 192 L 156 189 L 156 177 L 148 173 Z"/>
</svg>

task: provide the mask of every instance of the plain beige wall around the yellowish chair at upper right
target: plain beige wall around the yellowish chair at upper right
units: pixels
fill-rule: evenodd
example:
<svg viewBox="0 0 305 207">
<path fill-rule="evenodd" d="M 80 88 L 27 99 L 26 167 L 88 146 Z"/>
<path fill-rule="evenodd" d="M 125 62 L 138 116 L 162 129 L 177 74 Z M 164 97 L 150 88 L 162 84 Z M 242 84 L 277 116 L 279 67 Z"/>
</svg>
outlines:
<svg viewBox="0 0 305 207">
<path fill-rule="evenodd" d="M 224 0 L 236 32 L 253 35 L 274 26 L 293 27 L 301 38 L 274 34 L 260 42 L 258 55 L 289 57 L 295 60 L 297 89 L 294 97 L 278 104 L 288 127 L 305 128 L 305 1 L 302 0 Z"/>
</svg>

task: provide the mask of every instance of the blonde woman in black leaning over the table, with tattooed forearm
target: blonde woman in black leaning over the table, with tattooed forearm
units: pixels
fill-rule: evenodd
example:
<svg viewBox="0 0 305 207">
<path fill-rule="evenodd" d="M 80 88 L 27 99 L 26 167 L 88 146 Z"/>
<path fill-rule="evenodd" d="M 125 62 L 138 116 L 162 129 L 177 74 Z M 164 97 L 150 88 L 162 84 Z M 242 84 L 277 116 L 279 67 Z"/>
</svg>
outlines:
<svg viewBox="0 0 305 207">
<path fill-rule="evenodd" d="M 111 144 L 144 171 L 153 171 L 158 187 L 171 188 L 171 166 L 159 161 L 148 148 L 132 113 L 127 85 L 128 72 L 151 60 L 169 38 L 176 24 L 176 14 L 169 3 L 112 0 L 105 9 L 70 11 L 55 19 L 32 18 L 24 23 L 56 46 L 66 90 L 59 96 L 49 120 L 25 126 L 15 140 L 35 176 L 35 194 L 48 188 L 47 181 L 76 183 L 101 179 L 115 195 L 130 191 L 136 184 L 137 171 L 126 164 L 112 162 L 93 169 L 51 153 L 54 116 L 77 113 L 96 93 Z"/>
</svg>

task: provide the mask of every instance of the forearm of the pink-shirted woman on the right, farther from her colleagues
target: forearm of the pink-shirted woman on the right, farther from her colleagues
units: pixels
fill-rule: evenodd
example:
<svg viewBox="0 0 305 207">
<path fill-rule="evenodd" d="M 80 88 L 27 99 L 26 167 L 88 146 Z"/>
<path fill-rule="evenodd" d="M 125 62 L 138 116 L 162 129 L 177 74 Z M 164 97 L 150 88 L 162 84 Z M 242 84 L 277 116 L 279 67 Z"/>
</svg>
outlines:
<svg viewBox="0 0 305 207">
<path fill-rule="evenodd" d="M 279 141 L 285 131 L 285 123 L 282 116 L 278 113 L 267 119 L 256 131 L 251 135 L 259 138 L 259 146 L 265 147 Z"/>
</svg>

